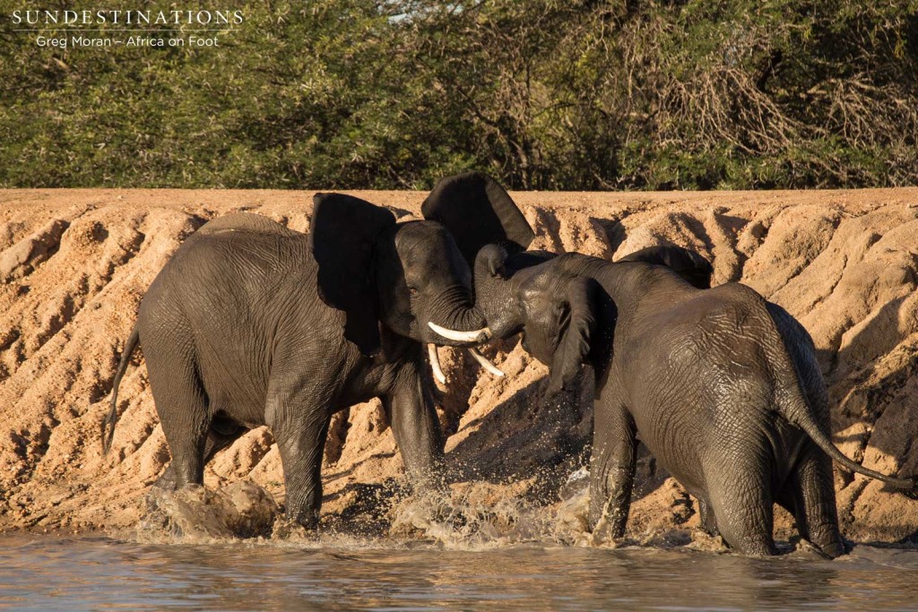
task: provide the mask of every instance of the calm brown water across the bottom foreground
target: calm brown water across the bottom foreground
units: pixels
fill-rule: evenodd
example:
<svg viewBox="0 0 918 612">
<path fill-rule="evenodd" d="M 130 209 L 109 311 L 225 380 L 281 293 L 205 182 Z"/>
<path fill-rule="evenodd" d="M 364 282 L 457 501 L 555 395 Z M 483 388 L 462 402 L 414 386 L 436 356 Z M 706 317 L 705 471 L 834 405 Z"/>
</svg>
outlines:
<svg viewBox="0 0 918 612">
<path fill-rule="evenodd" d="M 0 608 L 433 610 L 918 608 L 918 551 L 834 562 L 685 549 L 517 545 L 444 551 L 236 540 L 142 544 L 0 536 Z"/>
</svg>

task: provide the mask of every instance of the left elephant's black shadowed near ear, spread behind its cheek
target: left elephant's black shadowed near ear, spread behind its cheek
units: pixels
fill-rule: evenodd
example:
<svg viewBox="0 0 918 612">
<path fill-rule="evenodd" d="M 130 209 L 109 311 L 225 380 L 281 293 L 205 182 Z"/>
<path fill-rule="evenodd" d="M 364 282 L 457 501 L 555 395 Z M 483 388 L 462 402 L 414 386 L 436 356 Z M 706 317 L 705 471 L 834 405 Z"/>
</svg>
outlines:
<svg viewBox="0 0 918 612">
<path fill-rule="evenodd" d="M 343 194 L 312 198 L 309 240 L 319 264 L 319 297 L 344 311 L 344 337 L 364 355 L 375 355 L 380 347 L 375 246 L 395 226 L 396 217 L 386 208 L 360 198 Z"/>
</svg>

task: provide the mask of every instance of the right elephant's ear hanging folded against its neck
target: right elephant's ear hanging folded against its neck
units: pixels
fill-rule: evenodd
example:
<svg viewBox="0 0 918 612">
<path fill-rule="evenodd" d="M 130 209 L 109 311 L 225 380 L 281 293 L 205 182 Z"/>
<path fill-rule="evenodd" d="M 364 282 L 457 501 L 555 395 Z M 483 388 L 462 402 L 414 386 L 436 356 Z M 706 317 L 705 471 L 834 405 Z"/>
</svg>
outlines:
<svg viewBox="0 0 918 612">
<path fill-rule="evenodd" d="M 578 277 L 567 285 L 560 308 L 558 326 L 560 339 L 552 357 L 548 392 L 554 394 L 566 389 L 587 362 L 591 346 L 598 339 L 600 294 L 602 288 L 594 279 Z M 603 323 L 607 323 L 603 321 Z M 613 325 L 609 323 L 609 329 Z M 609 343 L 611 349 L 611 343 Z"/>
</svg>

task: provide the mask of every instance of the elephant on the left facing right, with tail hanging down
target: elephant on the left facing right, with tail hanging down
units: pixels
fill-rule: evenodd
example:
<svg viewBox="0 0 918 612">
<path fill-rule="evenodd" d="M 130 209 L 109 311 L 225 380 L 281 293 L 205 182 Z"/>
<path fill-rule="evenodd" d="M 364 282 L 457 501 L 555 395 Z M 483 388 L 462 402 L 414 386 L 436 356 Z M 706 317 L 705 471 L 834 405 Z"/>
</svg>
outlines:
<svg viewBox="0 0 918 612">
<path fill-rule="evenodd" d="M 379 397 L 409 477 L 442 456 L 422 343 L 469 346 L 428 327 L 485 328 L 471 273 L 434 221 L 396 223 L 347 195 L 317 195 L 310 233 L 234 214 L 198 229 L 140 304 L 112 394 L 143 345 L 173 461 L 161 486 L 202 484 L 206 462 L 267 425 L 284 464 L 287 516 L 319 518 L 319 468 L 331 415 Z"/>
</svg>

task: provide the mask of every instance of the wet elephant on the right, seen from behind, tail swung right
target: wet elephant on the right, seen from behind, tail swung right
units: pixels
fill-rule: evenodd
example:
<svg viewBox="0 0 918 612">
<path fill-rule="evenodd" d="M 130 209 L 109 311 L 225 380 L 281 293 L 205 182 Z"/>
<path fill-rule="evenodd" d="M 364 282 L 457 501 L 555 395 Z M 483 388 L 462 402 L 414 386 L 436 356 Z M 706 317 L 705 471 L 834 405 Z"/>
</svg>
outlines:
<svg viewBox="0 0 918 612">
<path fill-rule="evenodd" d="M 476 200 L 487 194 L 456 190 L 431 207 Z M 591 529 L 623 535 L 638 435 L 699 500 L 703 527 L 744 553 L 775 553 L 775 503 L 824 554 L 845 552 L 830 458 L 914 495 L 914 478 L 868 470 L 834 447 L 812 339 L 749 287 L 693 286 L 683 275 L 704 287 L 710 264 L 698 261 L 692 273 L 690 255 L 678 257 L 680 275 L 647 261 L 553 257 L 496 241 L 475 264 L 476 306 L 494 337 L 522 333 L 525 350 L 550 366 L 550 393 L 584 363 L 596 378 Z M 639 257 L 672 260 L 654 250 Z"/>
</svg>

